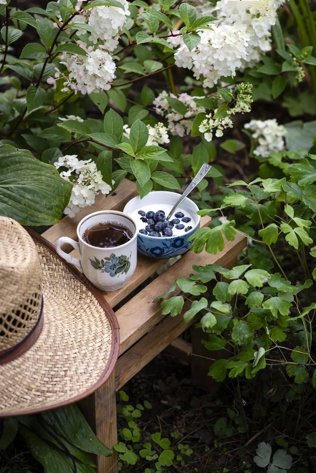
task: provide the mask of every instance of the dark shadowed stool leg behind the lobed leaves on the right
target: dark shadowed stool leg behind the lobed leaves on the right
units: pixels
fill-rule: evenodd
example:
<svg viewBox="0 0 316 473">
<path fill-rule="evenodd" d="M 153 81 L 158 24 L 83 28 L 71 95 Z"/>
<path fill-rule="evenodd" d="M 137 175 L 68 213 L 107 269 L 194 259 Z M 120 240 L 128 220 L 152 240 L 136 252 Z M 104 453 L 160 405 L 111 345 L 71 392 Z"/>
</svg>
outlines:
<svg viewBox="0 0 316 473">
<path fill-rule="evenodd" d="M 237 265 L 237 255 L 234 255 L 225 267 L 228 269 Z M 230 282 L 230 281 L 228 281 Z M 202 340 L 208 340 L 208 334 L 204 333 L 202 329 L 196 329 L 193 326 L 192 330 L 192 360 L 191 360 L 191 378 L 194 385 L 205 389 L 210 394 L 215 394 L 219 389 L 220 384 L 208 376 L 211 359 L 227 358 L 228 352 L 226 350 L 210 351 L 202 345 Z M 211 358 L 211 359 L 210 359 Z"/>
</svg>

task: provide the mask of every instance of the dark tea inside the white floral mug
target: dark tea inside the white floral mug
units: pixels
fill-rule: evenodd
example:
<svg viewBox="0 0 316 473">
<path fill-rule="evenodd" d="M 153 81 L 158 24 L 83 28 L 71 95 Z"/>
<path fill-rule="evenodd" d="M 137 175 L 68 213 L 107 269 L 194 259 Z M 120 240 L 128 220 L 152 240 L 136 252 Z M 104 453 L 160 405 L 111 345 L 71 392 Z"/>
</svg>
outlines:
<svg viewBox="0 0 316 473">
<path fill-rule="evenodd" d="M 88 228 L 83 240 L 97 248 L 114 248 L 127 243 L 133 234 L 131 230 L 119 222 L 100 222 Z"/>
</svg>

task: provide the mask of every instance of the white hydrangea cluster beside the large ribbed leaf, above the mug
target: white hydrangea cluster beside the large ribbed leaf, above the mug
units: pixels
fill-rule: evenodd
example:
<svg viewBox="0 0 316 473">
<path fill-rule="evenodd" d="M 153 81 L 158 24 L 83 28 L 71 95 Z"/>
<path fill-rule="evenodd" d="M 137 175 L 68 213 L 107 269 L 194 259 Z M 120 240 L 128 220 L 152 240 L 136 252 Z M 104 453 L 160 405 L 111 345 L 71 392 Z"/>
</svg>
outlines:
<svg viewBox="0 0 316 473">
<path fill-rule="evenodd" d="M 94 204 L 97 193 L 108 194 L 112 190 L 91 159 L 79 161 L 77 155 L 66 155 L 58 158 L 54 166 L 66 168 L 67 171 L 61 171 L 60 175 L 73 184 L 70 201 L 64 210 L 64 214 L 70 217 L 74 217 L 80 208 Z"/>
</svg>

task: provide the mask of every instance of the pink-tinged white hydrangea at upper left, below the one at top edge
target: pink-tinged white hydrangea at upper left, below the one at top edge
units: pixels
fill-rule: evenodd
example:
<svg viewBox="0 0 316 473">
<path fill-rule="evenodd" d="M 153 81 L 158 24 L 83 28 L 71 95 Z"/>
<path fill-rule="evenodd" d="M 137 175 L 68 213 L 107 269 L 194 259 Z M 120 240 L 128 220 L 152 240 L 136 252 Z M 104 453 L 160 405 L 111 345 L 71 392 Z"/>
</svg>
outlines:
<svg viewBox="0 0 316 473">
<path fill-rule="evenodd" d="M 66 62 L 61 62 L 69 70 L 69 76 L 65 78 L 62 90 L 68 91 L 71 88 L 75 94 L 78 91 L 82 94 L 91 94 L 109 90 L 116 77 L 114 74 L 116 65 L 112 57 L 100 48 L 91 51 L 91 47 L 87 48 L 84 43 L 80 43 L 80 46 L 87 51 L 86 56 L 71 54 L 67 56 Z"/>
</svg>

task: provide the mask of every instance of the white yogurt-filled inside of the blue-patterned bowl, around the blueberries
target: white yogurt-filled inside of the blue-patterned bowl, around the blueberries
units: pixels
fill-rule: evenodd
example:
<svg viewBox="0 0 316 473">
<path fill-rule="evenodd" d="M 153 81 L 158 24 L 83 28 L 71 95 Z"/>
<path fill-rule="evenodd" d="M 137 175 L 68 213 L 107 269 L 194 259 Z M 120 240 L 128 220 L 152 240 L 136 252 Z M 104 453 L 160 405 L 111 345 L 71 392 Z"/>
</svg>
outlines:
<svg viewBox="0 0 316 473">
<path fill-rule="evenodd" d="M 141 210 L 145 205 L 150 205 L 150 204 L 159 204 L 161 205 L 161 208 L 163 209 L 163 205 L 174 205 L 176 201 L 179 199 L 180 194 L 177 194 L 176 192 L 168 192 L 168 191 L 152 191 L 149 192 L 149 194 L 145 195 L 142 199 L 140 199 L 140 196 L 136 196 L 133 199 L 131 199 L 129 202 L 124 207 L 124 213 L 127 215 L 132 215 L 132 213 L 135 210 Z M 184 199 L 183 202 L 181 202 L 180 207 L 185 210 L 188 214 L 192 216 L 194 226 L 193 230 L 195 227 L 199 224 L 200 222 L 200 216 L 197 215 L 197 211 L 199 210 L 198 206 L 188 197 Z M 167 215 L 166 215 L 167 217 Z M 185 235 L 185 232 L 183 233 Z M 149 238 L 154 238 L 157 239 L 156 236 L 149 236 L 146 235 Z M 174 238 L 174 236 L 163 236 L 163 238 Z"/>
</svg>

